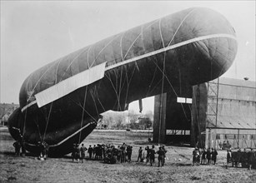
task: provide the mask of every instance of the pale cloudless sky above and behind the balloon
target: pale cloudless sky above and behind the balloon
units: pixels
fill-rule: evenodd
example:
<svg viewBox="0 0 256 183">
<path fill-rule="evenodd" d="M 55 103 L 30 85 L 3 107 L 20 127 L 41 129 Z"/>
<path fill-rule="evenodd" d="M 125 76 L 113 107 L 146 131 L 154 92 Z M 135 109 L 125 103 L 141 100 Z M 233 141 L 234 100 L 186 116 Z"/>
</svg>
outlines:
<svg viewBox="0 0 256 183">
<path fill-rule="evenodd" d="M 1 1 L 0 101 L 18 103 L 28 75 L 59 57 L 189 7 L 220 12 L 237 33 L 237 57 L 223 77 L 255 81 L 255 1 Z M 130 108 L 138 111 L 138 101 Z M 153 111 L 153 97 L 143 109 Z"/>
</svg>

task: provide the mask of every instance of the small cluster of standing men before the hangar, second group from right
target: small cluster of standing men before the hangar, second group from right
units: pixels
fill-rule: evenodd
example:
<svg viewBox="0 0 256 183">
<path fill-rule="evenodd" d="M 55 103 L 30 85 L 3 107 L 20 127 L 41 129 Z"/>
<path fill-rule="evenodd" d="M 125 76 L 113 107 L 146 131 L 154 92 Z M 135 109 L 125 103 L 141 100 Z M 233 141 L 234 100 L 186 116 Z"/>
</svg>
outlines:
<svg viewBox="0 0 256 183">
<path fill-rule="evenodd" d="M 196 147 L 193 150 L 193 166 L 197 165 L 215 165 L 217 161 L 218 151 L 216 149 L 212 148 L 212 151 L 210 148 L 206 151 L 205 148 L 203 148 L 201 151 Z M 201 163 L 200 163 L 201 161 Z"/>
</svg>

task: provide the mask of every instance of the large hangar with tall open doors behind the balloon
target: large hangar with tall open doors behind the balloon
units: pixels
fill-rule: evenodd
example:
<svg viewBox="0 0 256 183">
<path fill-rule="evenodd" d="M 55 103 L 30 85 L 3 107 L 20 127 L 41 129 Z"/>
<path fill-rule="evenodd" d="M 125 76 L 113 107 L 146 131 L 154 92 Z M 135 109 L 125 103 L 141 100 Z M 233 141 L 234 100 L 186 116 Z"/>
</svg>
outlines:
<svg viewBox="0 0 256 183">
<path fill-rule="evenodd" d="M 153 141 L 256 148 L 256 82 L 219 77 L 155 96 Z"/>
</svg>

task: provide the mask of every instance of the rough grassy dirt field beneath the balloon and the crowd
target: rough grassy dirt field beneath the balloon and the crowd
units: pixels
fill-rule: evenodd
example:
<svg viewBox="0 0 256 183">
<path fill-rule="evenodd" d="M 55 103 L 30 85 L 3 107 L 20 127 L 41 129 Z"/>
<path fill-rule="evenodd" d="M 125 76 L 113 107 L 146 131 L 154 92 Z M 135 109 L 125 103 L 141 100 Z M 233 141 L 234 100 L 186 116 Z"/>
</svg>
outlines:
<svg viewBox="0 0 256 183">
<path fill-rule="evenodd" d="M 133 146 L 132 162 L 108 165 L 102 161 L 73 162 L 70 154 L 38 161 L 34 156 L 14 156 L 13 139 L 0 132 L 0 182 L 256 182 L 256 170 L 223 166 L 226 151 L 218 151 L 213 166 L 192 166 L 191 147 L 167 146 L 166 165 L 136 162 L 138 147 L 148 145 L 148 133 L 136 131 L 93 131 L 85 146 L 98 143 Z M 157 146 L 158 147 L 158 146 Z"/>
</svg>

